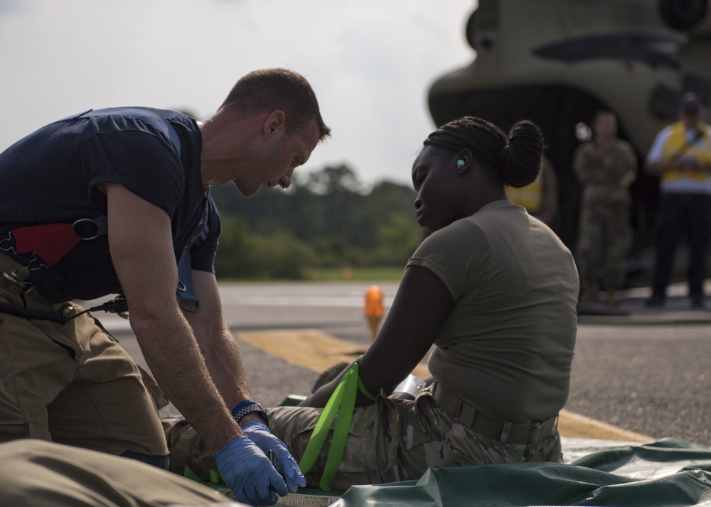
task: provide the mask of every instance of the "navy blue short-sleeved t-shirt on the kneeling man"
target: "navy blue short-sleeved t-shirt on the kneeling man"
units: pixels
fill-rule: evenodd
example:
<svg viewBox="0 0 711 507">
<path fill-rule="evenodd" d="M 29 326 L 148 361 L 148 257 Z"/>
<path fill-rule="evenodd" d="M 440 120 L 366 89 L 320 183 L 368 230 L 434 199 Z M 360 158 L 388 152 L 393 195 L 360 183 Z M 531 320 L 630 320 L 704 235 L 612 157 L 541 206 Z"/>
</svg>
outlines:
<svg viewBox="0 0 711 507">
<path fill-rule="evenodd" d="M 220 217 L 202 186 L 201 142 L 191 117 L 149 108 L 87 111 L 31 133 L 0 153 L 0 252 L 27 266 L 50 300 L 121 292 L 106 235 L 80 241 L 47 268 L 33 254 L 17 254 L 11 234 L 16 227 L 104 216 L 107 200 L 98 185 L 116 182 L 169 214 L 176 262 L 207 225 L 191 261 L 193 269 L 214 273 Z"/>
</svg>

